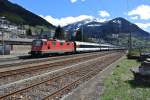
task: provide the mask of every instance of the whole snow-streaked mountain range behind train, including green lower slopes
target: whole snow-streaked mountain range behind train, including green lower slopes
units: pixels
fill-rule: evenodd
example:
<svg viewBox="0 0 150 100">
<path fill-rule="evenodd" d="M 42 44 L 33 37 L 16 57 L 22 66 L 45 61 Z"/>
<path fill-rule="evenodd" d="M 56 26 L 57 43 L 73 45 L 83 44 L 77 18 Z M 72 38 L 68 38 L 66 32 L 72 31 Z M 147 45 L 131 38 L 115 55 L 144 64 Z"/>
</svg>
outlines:
<svg viewBox="0 0 150 100">
<path fill-rule="evenodd" d="M 121 45 L 127 45 L 129 33 L 131 33 L 133 40 L 138 41 L 138 43 L 145 38 L 150 39 L 150 33 L 121 17 L 103 23 L 97 20 L 90 20 L 88 22 L 83 20 L 69 24 L 64 29 L 69 31 L 80 29 L 86 37 L 101 38 L 104 41 L 114 43 L 119 41 Z"/>
</svg>

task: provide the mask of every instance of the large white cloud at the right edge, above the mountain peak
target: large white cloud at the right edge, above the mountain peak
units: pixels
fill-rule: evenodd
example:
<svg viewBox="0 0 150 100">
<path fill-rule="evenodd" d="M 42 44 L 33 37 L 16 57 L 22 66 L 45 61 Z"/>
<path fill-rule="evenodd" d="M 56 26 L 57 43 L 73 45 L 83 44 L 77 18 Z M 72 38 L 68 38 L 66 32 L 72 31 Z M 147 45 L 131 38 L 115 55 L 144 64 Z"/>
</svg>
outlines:
<svg viewBox="0 0 150 100">
<path fill-rule="evenodd" d="M 129 16 L 139 16 L 140 19 L 150 19 L 150 5 L 140 5 L 128 12 Z"/>
</svg>

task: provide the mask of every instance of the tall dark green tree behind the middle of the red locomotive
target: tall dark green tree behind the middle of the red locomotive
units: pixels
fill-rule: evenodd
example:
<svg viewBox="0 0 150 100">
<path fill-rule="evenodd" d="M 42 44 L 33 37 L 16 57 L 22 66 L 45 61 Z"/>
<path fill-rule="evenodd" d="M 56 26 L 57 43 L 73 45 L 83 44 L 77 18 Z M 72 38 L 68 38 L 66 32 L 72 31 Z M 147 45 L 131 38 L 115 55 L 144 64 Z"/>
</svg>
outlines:
<svg viewBox="0 0 150 100">
<path fill-rule="evenodd" d="M 54 38 L 64 39 L 64 30 L 60 26 L 58 26 L 55 30 Z"/>
</svg>

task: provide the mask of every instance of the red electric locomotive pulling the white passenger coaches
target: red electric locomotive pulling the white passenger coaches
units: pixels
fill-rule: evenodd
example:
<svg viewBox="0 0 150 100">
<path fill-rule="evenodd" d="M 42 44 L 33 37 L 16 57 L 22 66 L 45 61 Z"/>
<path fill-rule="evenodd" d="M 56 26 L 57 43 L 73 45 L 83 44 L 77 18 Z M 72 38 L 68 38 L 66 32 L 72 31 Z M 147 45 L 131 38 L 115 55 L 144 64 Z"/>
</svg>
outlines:
<svg viewBox="0 0 150 100">
<path fill-rule="evenodd" d="M 74 42 L 57 39 L 37 39 L 32 42 L 31 55 L 72 53 L 75 51 Z"/>
</svg>

